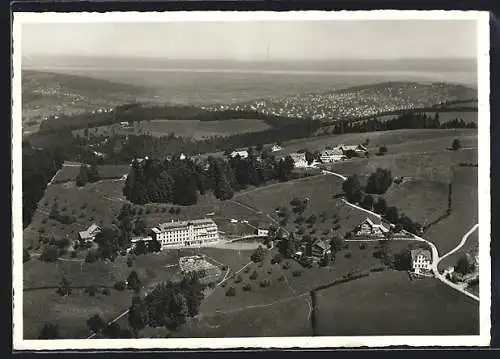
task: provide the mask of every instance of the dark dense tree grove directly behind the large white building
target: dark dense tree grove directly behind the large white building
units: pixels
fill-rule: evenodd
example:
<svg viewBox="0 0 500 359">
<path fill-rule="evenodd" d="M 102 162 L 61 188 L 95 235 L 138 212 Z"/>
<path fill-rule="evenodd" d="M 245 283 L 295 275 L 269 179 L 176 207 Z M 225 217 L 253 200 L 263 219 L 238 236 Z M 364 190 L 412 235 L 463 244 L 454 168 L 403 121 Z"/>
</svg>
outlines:
<svg viewBox="0 0 500 359">
<path fill-rule="evenodd" d="M 133 203 L 149 202 L 193 205 L 207 190 L 227 200 L 234 191 L 265 184 L 270 180 L 287 181 L 292 176 L 293 160 L 289 157 L 258 158 L 251 152 L 248 158 L 209 157 L 207 166 L 180 156 L 164 161 L 146 159 L 134 161 L 123 194 Z"/>
</svg>

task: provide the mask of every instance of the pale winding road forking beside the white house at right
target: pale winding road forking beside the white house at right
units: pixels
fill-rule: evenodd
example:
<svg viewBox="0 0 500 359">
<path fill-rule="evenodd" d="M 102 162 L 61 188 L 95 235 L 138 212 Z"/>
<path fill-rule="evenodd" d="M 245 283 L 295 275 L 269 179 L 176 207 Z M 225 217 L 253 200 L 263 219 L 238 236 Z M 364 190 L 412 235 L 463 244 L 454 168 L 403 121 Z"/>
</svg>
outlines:
<svg viewBox="0 0 500 359">
<path fill-rule="evenodd" d="M 346 180 L 347 177 L 344 176 L 344 175 L 341 175 L 339 173 L 335 173 L 335 172 L 331 172 L 331 171 L 327 171 L 327 170 L 323 170 L 323 174 L 324 175 L 332 175 L 332 176 L 336 176 L 336 177 L 339 177 L 340 179 L 342 180 Z M 346 201 L 345 199 L 342 200 L 345 204 L 347 204 L 348 206 L 351 206 L 353 208 L 356 208 L 358 210 L 362 210 L 366 213 L 369 213 L 373 216 L 376 216 L 378 218 L 381 218 L 379 214 L 373 212 L 373 211 L 370 211 L 370 210 L 367 210 L 365 208 L 362 208 L 362 207 L 359 207 L 353 203 L 350 203 L 348 201 Z M 408 236 L 411 236 L 413 238 L 413 240 L 416 240 L 416 241 L 420 241 L 420 242 L 425 242 L 429 245 L 429 247 L 431 248 L 431 251 L 432 251 L 432 272 L 434 273 L 434 276 L 439 279 L 441 282 L 443 282 L 444 284 L 446 284 L 447 286 L 465 294 L 466 296 L 476 300 L 476 301 L 479 301 L 479 297 L 468 292 L 467 290 L 465 290 L 462 286 L 458 285 L 458 284 L 455 284 L 455 283 L 452 283 L 451 281 L 449 281 L 448 279 L 446 279 L 446 277 L 439 273 L 439 270 L 438 270 L 438 265 L 439 265 L 439 262 L 441 262 L 444 258 L 450 256 L 451 254 L 457 252 L 460 248 L 462 248 L 462 246 L 465 244 L 465 242 L 467 241 L 467 238 L 469 238 L 469 236 L 474 233 L 474 231 L 479 228 L 479 224 L 475 224 L 474 226 L 472 226 L 472 228 L 464 234 L 464 236 L 462 237 L 462 240 L 457 244 L 457 246 L 455 248 L 453 248 L 451 251 L 447 252 L 446 254 L 442 255 L 441 257 L 439 256 L 439 252 L 438 252 L 438 249 L 436 247 L 436 245 L 434 243 L 432 243 L 431 241 L 425 239 L 425 238 L 422 238 L 422 237 L 419 237 L 413 233 L 409 233 L 407 231 L 404 231 L 405 234 L 407 234 Z M 362 240 L 359 240 L 359 241 L 362 241 Z"/>
</svg>

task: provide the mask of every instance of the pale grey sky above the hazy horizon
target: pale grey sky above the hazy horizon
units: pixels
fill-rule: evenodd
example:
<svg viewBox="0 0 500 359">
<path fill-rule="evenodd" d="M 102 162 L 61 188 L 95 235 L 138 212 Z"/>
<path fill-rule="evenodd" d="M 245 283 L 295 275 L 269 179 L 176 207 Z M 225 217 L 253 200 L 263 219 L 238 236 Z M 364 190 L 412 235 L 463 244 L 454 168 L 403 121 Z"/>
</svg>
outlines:
<svg viewBox="0 0 500 359">
<path fill-rule="evenodd" d="M 172 59 L 473 59 L 474 20 L 39 23 L 22 28 L 23 56 Z"/>
</svg>

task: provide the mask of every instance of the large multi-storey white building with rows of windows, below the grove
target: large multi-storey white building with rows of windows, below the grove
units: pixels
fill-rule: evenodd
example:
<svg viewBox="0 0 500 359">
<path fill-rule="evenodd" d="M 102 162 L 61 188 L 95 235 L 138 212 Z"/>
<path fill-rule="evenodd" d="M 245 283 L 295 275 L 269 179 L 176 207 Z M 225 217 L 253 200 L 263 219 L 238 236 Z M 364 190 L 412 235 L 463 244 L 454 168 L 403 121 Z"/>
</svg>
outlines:
<svg viewBox="0 0 500 359">
<path fill-rule="evenodd" d="M 202 247 L 219 241 L 219 231 L 212 219 L 167 222 L 151 229 L 151 235 L 161 244 L 161 249 Z"/>
</svg>

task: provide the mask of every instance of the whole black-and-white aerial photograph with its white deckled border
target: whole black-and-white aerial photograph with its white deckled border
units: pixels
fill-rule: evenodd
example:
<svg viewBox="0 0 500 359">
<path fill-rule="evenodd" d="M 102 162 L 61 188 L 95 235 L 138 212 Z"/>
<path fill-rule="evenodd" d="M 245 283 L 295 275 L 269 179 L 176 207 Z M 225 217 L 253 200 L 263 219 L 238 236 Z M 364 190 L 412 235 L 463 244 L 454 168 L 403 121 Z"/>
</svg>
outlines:
<svg viewBox="0 0 500 359">
<path fill-rule="evenodd" d="M 489 345 L 487 13 L 13 18 L 14 349 Z"/>
</svg>

